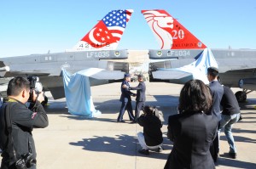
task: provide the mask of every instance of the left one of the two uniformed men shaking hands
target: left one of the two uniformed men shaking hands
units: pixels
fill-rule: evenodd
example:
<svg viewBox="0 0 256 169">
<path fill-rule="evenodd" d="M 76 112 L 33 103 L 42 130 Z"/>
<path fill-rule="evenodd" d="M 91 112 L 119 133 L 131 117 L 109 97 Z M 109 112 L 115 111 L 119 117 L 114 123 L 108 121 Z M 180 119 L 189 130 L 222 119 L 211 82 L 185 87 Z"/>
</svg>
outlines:
<svg viewBox="0 0 256 169">
<path fill-rule="evenodd" d="M 134 115 L 132 113 L 132 105 L 131 105 L 131 96 L 136 96 L 136 94 L 131 93 L 131 91 L 129 90 L 129 87 L 130 87 L 129 82 L 130 81 L 131 81 L 131 76 L 130 76 L 130 74 L 126 73 L 125 77 L 124 77 L 124 81 L 121 84 L 122 94 L 120 97 L 120 102 L 122 102 L 122 104 L 121 104 L 119 116 L 117 119 L 118 122 L 125 122 L 123 120 L 123 115 L 125 113 L 125 110 L 128 111 L 130 121 L 134 121 Z"/>
</svg>

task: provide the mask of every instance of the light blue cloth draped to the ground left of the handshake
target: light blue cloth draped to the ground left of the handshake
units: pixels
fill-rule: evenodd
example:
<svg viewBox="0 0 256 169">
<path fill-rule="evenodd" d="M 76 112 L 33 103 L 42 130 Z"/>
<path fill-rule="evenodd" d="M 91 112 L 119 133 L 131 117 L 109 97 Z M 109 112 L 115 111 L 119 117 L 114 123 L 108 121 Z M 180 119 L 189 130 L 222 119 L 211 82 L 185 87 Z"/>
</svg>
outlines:
<svg viewBox="0 0 256 169">
<path fill-rule="evenodd" d="M 102 114 L 95 109 L 91 98 L 89 81 L 91 71 L 95 70 L 81 70 L 69 75 L 67 70 L 62 69 L 67 108 L 72 115 L 85 115 L 91 118 Z"/>
</svg>

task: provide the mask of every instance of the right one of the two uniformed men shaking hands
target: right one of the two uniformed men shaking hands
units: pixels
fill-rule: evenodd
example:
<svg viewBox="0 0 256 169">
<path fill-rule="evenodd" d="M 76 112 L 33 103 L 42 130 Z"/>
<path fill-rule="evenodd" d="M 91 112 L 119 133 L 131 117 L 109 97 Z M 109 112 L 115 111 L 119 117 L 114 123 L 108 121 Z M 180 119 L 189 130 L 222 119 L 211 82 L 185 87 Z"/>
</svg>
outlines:
<svg viewBox="0 0 256 169">
<path fill-rule="evenodd" d="M 136 123 L 140 116 L 140 111 L 143 110 L 146 101 L 146 85 L 144 83 L 143 75 L 138 75 L 137 80 L 139 84 L 137 87 L 129 87 L 130 90 L 137 90 L 136 106 L 135 106 L 135 118 L 132 123 Z"/>
</svg>

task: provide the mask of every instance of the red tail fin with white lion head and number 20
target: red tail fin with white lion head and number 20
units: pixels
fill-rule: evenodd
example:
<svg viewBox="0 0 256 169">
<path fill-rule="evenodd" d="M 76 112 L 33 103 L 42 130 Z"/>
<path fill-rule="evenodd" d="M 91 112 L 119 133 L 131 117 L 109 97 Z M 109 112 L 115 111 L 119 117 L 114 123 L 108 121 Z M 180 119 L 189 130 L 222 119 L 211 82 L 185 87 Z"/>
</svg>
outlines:
<svg viewBox="0 0 256 169">
<path fill-rule="evenodd" d="M 165 10 L 142 10 L 142 14 L 159 42 L 161 49 L 207 48 L 205 44 Z"/>
</svg>

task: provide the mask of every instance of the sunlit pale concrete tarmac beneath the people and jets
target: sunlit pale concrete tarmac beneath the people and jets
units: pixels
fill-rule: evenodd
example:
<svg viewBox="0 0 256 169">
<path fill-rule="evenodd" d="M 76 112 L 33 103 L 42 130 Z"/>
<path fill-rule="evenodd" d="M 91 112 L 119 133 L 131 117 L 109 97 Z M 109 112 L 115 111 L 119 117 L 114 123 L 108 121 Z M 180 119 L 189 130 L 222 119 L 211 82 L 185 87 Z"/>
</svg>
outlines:
<svg viewBox="0 0 256 169">
<path fill-rule="evenodd" d="M 137 86 L 137 82 L 131 82 L 131 86 Z M 125 123 L 116 121 L 121 105 L 120 83 L 111 83 L 91 87 L 96 110 L 102 112 L 102 115 L 91 119 L 70 115 L 65 99 L 54 100 L 49 96 L 49 105 L 45 109 L 49 116 L 49 127 L 33 130 L 38 169 L 164 168 L 172 151 L 172 142 L 166 137 L 167 119 L 169 115 L 177 114 L 178 97 L 183 85 L 146 82 L 146 86 L 146 104 L 157 106 L 166 120 L 162 127 L 162 152 L 150 151 L 150 155 L 137 152 L 141 149 L 137 132 L 142 132 L 143 127 L 131 124 L 127 112 L 124 115 Z M 232 89 L 234 92 L 238 90 Z M 247 103 L 240 105 L 243 119 L 233 127 L 238 156 L 236 159 L 229 158 L 229 144 L 222 132 L 217 169 L 256 168 L 256 93 L 249 93 Z"/>
</svg>

